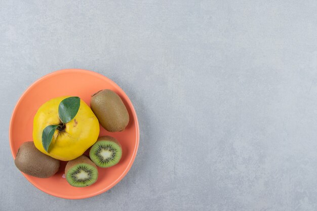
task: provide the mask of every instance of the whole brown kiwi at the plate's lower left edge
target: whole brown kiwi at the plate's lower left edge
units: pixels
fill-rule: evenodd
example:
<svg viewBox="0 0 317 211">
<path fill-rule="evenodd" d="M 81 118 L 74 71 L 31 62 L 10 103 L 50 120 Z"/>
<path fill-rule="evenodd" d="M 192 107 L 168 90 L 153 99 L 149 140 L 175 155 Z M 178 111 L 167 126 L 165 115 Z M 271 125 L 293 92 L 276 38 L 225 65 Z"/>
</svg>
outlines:
<svg viewBox="0 0 317 211">
<path fill-rule="evenodd" d="M 40 152 L 34 142 L 24 142 L 14 160 L 17 168 L 28 175 L 38 178 L 49 178 L 59 170 L 60 161 Z"/>
</svg>

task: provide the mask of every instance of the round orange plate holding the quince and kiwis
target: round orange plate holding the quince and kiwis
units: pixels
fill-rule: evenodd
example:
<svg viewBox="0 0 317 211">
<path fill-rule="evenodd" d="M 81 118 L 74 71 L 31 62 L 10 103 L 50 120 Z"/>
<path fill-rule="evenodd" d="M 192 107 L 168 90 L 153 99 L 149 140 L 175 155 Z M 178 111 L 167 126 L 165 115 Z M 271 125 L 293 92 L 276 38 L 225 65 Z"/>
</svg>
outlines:
<svg viewBox="0 0 317 211">
<path fill-rule="evenodd" d="M 59 172 L 48 179 L 35 178 L 23 174 L 38 189 L 53 196 L 67 199 L 88 198 L 103 193 L 129 172 L 139 146 L 139 124 L 133 105 L 125 92 L 109 78 L 88 70 L 65 69 L 50 73 L 35 81 L 21 96 L 13 110 L 10 121 L 9 139 L 13 157 L 23 142 L 32 141 L 33 117 L 37 109 L 46 101 L 59 96 L 78 96 L 90 105 L 91 95 L 102 89 L 116 92 L 125 103 L 130 122 L 123 132 L 110 133 L 100 127 L 100 136 L 109 135 L 122 145 L 120 162 L 110 168 L 98 168 L 99 177 L 89 187 L 70 186 L 63 178 L 66 162 L 61 162 Z M 88 151 L 86 151 L 87 154 Z"/>
</svg>

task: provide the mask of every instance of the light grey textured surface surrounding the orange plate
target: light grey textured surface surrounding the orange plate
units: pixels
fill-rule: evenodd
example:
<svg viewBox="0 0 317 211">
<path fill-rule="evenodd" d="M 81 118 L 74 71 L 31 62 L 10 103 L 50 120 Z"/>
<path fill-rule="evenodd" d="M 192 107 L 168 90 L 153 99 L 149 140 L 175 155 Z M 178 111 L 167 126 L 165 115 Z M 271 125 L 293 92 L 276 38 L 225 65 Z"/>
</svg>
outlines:
<svg viewBox="0 0 317 211">
<path fill-rule="evenodd" d="M 317 210 L 316 11 L 315 0 L 0 0 L 0 210 Z M 64 68 L 114 80 L 140 123 L 131 171 L 83 200 L 33 187 L 9 148 L 23 91 Z"/>
</svg>

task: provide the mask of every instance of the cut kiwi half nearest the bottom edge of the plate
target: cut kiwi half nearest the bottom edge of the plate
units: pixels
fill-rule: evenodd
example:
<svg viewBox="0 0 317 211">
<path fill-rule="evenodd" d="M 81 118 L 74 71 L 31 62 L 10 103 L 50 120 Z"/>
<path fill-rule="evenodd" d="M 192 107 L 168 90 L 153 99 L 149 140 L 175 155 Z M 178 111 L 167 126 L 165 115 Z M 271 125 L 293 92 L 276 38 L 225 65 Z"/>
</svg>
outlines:
<svg viewBox="0 0 317 211">
<path fill-rule="evenodd" d="M 98 178 L 97 166 L 86 155 L 67 162 L 65 167 L 67 182 L 74 187 L 94 184 Z"/>
</svg>

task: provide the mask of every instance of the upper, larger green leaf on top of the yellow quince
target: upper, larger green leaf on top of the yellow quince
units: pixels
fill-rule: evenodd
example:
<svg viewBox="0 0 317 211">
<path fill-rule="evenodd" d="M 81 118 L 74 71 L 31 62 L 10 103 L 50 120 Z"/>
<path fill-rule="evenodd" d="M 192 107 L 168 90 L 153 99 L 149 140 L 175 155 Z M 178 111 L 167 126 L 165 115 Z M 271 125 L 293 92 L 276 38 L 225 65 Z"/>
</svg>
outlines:
<svg viewBox="0 0 317 211">
<path fill-rule="evenodd" d="M 81 99 L 79 97 L 69 97 L 62 100 L 58 106 L 58 115 L 63 123 L 69 122 L 73 119 L 81 106 Z"/>
</svg>

